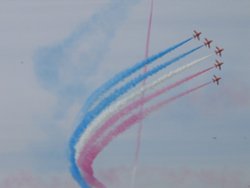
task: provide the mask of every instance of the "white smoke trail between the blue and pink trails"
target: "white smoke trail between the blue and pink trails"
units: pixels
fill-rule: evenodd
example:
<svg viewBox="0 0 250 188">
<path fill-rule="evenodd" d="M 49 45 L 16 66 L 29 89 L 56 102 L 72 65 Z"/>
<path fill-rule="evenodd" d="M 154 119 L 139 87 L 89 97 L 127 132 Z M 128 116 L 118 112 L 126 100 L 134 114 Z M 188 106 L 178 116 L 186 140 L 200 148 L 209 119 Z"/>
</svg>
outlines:
<svg viewBox="0 0 250 188">
<path fill-rule="evenodd" d="M 107 109 L 105 109 L 105 111 L 103 111 L 103 113 L 100 114 L 100 116 L 98 116 L 90 125 L 89 127 L 85 130 L 84 134 L 81 136 L 79 142 L 76 145 L 76 148 L 83 148 L 83 146 L 86 144 L 87 140 L 92 137 L 93 132 L 95 132 L 95 130 L 98 128 L 98 125 L 104 121 L 106 121 L 110 115 L 112 115 L 114 112 L 119 111 L 124 105 L 128 104 L 130 101 L 134 100 L 136 97 L 140 96 L 142 93 L 144 93 L 145 91 L 148 91 L 150 89 L 155 88 L 156 86 L 158 86 L 159 84 L 161 84 L 162 82 L 164 82 L 166 79 L 171 78 L 172 76 L 179 74 L 189 68 L 191 68 L 192 66 L 206 60 L 207 58 L 209 58 L 211 55 L 208 56 L 204 56 L 200 59 L 197 59 L 187 65 L 183 65 L 182 67 L 179 67 L 173 71 L 170 71 L 168 74 L 163 75 L 162 77 L 158 78 L 156 81 L 147 84 L 146 86 L 142 86 L 141 88 L 138 88 L 135 92 L 131 93 L 129 96 L 120 99 L 119 101 L 117 101 L 115 104 L 111 105 L 110 107 L 108 107 Z M 133 109 L 133 108 L 132 108 Z M 132 110 L 131 109 L 131 110 Z M 110 123 L 111 124 L 111 123 Z M 107 127 L 106 127 L 107 128 Z M 106 128 L 103 129 L 107 130 Z M 100 130 L 100 129 L 99 129 Z M 99 131 L 98 130 L 98 131 Z M 99 136 L 98 136 L 99 137 Z M 76 154 L 76 158 L 78 158 L 78 154 Z"/>
</svg>

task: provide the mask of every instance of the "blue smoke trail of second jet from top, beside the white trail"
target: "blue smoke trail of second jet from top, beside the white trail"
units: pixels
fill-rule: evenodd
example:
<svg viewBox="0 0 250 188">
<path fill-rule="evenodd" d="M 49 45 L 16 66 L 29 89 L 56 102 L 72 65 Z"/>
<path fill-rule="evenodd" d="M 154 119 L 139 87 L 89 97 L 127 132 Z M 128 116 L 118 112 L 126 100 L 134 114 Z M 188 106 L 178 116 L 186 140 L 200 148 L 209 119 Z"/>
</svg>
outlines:
<svg viewBox="0 0 250 188">
<path fill-rule="evenodd" d="M 183 53 L 182 55 L 177 56 L 177 57 L 173 58 L 172 60 L 170 60 L 170 61 L 168 61 L 166 63 L 158 65 L 155 68 L 151 69 L 150 71 L 146 72 L 145 74 L 139 75 L 135 79 L 133 79 L 133 80 L 129 81 L 128 83 L 126 83 L 121 88 L 115 90 L 111 95 L 109 95 L 108 97 L 103 99 L 93 110 L 91 110 L 90 112 L 88 112 L 84 116 L 82 122 L 80 123 L 78 128 L 75 130 L 75 132 L 72 135 L 71 140 L 70 140 L 71 171 L 72 171 L 73 176 L 76 178 L 76 180 L 78 181 L 79 184 L 82 185 L 85 182 L 83 180 L 83 177 L 81 177 L 80 171 L 79 171 L 79 169 L 77 167 L 77 164 L 76 164 L 76 161 L 75 161 L 75 148 L 74 148 L 74 146 L 78 142 L 81 134 L 83 134 L 84 130 L 89 125 L 89 123 L 91 123 L 94 120 L 94 118 L 96 116 L 98 116 L 106 107 L 108 107 L 117 98 L 119 98 L 120 96 L 125 94 L 129 89 L 135 87 L 140 82 L 142 82 L 144 79 L 147 79 L 148 77 L 156 74 L 160 70 L 162 70 L 162 69 L 166 68 L 167 66 L 177 62 L 178 60 L 186 57 L 187 55 L 195 52 L 196 50 L 200 49 L 201 47 L 203 47 L 203 45 L 198 46 L 198 47 L 196 47 L 196 48 L 194 48 L 194 49 L 192 49 L 192 50 L 190 50 L 190 51 L 188 51 L 186 53 Z M 86 185 L 84 185 L 84 186 L 86 186 Z"/>
</svg>

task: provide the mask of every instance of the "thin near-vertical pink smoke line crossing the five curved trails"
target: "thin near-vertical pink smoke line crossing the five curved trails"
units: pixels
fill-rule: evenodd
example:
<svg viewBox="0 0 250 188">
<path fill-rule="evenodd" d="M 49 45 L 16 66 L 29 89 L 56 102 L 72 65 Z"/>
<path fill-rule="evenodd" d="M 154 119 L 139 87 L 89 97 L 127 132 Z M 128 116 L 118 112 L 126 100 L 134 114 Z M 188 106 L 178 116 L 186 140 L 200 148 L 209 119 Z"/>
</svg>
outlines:
<svg viewBox="0 0 250 188">
<path fill-rule="evenodd" d="M 146 41 L 146 49 L 145 49 L 145 58 L 148 58 L 148 53 L 149 53 L 149 42 L 150 42 L 153 10 L 154 10 L 154 1 L 151 0 L 150 16 L 149 16 L 149 23 L 148 23 L 148 33 L 147 33 L 147 41 Z M 147 66 L 144 67 L 143 71 L 144 71 L 144 73 L 147 72 Z M 146 80 L 144 80 L 142 85 L 144 86 L 145 83 L 146 83 Z M 144 97 L 144 93 L 142 93 L 142 97 Z M 142 111 L 142 110 L 143 110 L 143 105 L 141 106 L 140 111 Z M 140 147 L 141 147 L 142 128 L 143 128 L 143 121 L 140 122 L 138 131 L 137 131 L 136 146 L 135 146 L 135 158 L 134 158 L 134 165 L 133 165 L 132 177 L 131 177 L 131 188 L 133 188 L 135 185 L 135 176 L 136 176 L 137 164 L 138 164 L 138 159 L 139 159 L 139 151 L 140 151 Z"/>
</svg>

